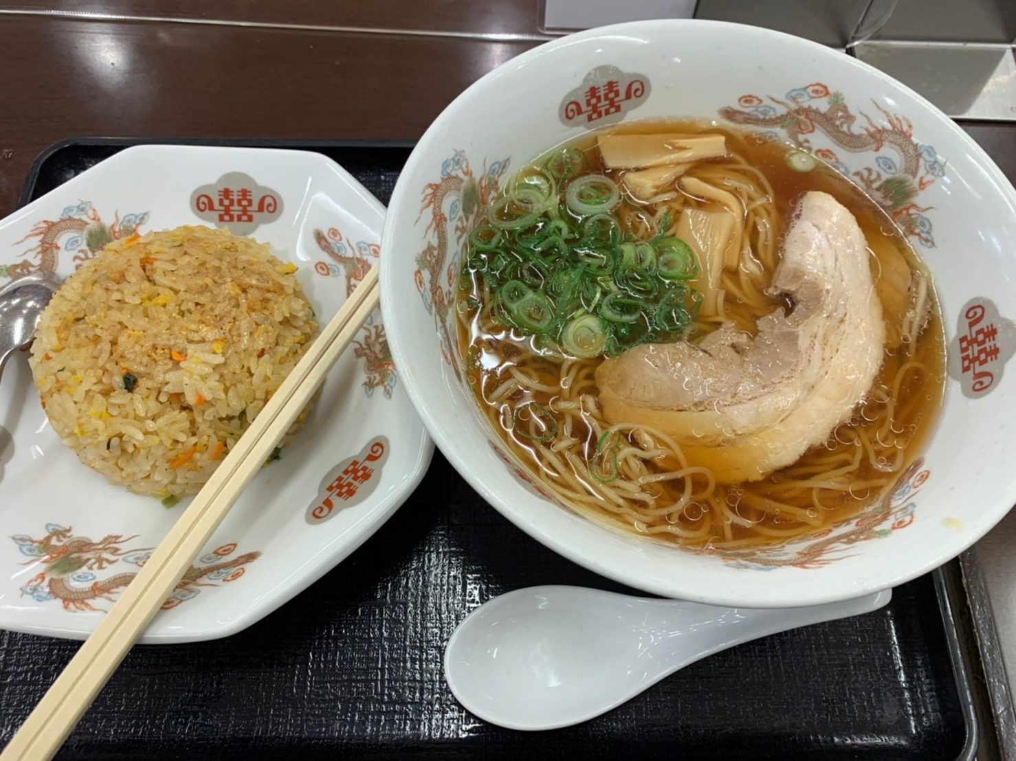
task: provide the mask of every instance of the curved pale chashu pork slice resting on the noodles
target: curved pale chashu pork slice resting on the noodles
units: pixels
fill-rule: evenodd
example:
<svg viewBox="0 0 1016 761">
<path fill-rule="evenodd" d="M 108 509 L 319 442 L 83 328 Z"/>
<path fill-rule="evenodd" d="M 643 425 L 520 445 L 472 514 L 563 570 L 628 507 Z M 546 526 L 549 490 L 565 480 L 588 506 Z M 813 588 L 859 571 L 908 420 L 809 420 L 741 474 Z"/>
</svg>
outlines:
<svg viewBox="0 0 1016 761">
<path fill-rule="evenodd" d="M 722 327 L 697 346 L 645 344 L 596 368 L 613 423 L 672 435 L 721 483 L 795 463 L 850 417 L 882 363 L 885 325 L 856 220 L 826 193 L 803 197 L 767 293 L 793 308 L 752 338 Z"/>
</svg>

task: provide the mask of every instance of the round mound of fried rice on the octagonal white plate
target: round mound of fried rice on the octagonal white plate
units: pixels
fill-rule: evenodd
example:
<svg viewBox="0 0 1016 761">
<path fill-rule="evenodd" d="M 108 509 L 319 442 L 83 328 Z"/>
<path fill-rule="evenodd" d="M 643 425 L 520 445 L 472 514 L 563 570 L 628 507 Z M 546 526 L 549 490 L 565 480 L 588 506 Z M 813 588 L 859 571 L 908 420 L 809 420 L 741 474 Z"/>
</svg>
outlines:
<svg viewBox="0 0 1016 761">
<path fill-rule="evenodd" d="M 197 492 L 317 333 L 296 269 L 208 227 L 110 244 L 56 292 L 31 347 L 53 429 L 133 492 Z"/>
</svg>

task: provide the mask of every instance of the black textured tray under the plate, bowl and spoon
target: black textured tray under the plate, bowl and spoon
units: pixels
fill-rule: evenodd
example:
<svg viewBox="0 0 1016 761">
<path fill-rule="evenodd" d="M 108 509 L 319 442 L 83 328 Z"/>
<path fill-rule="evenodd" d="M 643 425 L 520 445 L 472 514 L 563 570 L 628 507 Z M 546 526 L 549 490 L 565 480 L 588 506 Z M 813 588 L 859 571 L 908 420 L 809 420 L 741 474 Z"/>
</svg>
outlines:
<svg viewBox="0 0 1016 761">
<path fill-rule="evenodd" d="M 135 142 L 160 141 L 53 146 L 33 165 L 21 202 Z M 409 151 L 225 144 L 320 151 L 382 203 Z M 904 584 L 875 613 L 713 655 L 585 724 L 502 730 L 461 708 L 445 686 L 442 653 L 459 621 L 530 584 L 631 591 L 523 535 L 437 454 L 394 518 L 261 622 L 225 640 L 135 648 L 60 758 L 970 759 L 976 724 L 941 580 Z M 0 632 L 0 741 L 76 647 Z"/>
</svg>

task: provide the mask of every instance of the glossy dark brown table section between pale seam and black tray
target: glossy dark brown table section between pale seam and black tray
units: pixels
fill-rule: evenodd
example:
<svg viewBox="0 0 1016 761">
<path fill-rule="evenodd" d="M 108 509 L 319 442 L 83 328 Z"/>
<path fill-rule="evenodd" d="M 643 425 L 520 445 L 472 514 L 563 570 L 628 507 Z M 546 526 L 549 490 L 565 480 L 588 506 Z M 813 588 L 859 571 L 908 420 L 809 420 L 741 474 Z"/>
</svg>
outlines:
<svg viewBox="0 0 1016 761">
<path fill-rule="evenodd" d="M 0 15 L 0 217 L 58 140 L 416 139 L 462 89 L 535 44 Z"/>
</svg>

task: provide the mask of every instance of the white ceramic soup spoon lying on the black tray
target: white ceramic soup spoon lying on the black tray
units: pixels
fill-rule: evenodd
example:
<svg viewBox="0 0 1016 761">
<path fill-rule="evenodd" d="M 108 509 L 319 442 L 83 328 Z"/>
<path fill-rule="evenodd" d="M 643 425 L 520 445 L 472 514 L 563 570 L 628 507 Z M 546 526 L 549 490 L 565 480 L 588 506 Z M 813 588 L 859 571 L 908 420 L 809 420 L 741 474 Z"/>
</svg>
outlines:
<svg viewBox="0 0 1016 761">
<path fill-rule="evenodd" d="M 445 648 L 458 701 L 511 730 L 569 727 L 616 708 L 689 664 L 758 637 L 878 610 L 888 590 L 806 608 L 721 608 L 581 586 L 488 601 Z"/>
</svg>

